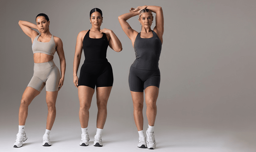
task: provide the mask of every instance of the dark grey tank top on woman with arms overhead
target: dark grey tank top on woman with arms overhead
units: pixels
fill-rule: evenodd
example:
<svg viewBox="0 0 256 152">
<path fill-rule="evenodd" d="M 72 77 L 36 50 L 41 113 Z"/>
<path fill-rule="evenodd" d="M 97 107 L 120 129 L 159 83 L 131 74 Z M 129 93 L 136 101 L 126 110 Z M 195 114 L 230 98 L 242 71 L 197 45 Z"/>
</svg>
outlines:
<svg viewBox="0 0 256 152">
<path fill-rule="evenodd" d="M 152 30 L 153 37 L 141 38 L 140 33 L 134 41 L 136 60 L 132 67 L 143 70 L 158 70 L 158 61 L 161 54 L 162 42 Z"/>
</svg>

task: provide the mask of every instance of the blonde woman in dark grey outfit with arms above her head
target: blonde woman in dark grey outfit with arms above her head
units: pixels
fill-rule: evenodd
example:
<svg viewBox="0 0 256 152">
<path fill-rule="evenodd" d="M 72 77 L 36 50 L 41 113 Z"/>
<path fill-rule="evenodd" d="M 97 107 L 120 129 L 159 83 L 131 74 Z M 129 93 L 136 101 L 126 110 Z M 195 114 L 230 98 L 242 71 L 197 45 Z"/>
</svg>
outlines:
<svg viewBox="0 0 256 152">
<path fill-rule="evenodd" d="M 152 12 L 156 13 L 156 26 L 151 30 L 153 23 Z M 141 32 L 133 30 L 126 22 L 131 17 L 139 15 L 142 25 Z M 161 53 L 164 33 L 164 15 L 159 6 L 139 6 L 131 8 L 130 13 L 118 17 L 123 31 L 132 41 L 136 60 L 130 67 L 129 86 L 133 98 L 133 116 L 139 132 L 138 147 L 154 149 L 156 147 L 154 124 L 157 113 L 156 101 L 160 85 L 160 71 L 158 61 Z M 147 141 L 143 134 L 143 91 L 147 105 L 148 129 Z"/>
</svg>

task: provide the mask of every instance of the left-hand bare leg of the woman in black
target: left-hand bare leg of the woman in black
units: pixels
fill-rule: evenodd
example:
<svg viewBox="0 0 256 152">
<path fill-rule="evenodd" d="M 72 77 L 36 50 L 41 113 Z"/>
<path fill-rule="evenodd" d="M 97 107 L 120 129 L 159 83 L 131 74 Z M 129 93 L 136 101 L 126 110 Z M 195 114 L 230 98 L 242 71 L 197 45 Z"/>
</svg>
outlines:
<svg viewBox="0 0 256 152">
<path fill-rule="evenodd" d="M 78 86 L 78 98 L 80 101 L 79 120 L 81 128 L 88 127 L 89 109 L 91 107 L 93 94 L 93 88 L 84 85 Z"/>
</svg>

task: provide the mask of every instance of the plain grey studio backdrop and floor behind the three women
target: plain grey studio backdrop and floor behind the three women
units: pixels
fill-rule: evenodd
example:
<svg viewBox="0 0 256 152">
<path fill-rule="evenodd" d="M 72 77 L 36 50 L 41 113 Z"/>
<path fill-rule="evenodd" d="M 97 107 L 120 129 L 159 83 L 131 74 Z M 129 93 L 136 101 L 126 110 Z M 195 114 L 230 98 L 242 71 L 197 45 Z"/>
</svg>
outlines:
<svg viewBox="0 0 256 152">
<path fill-rule="evenodd" d="M 11 0 L 0 1 L 0 5 L 0 151 L 147 150 L 136 147 L 139 136 L 128 85 L 135 52 L 118 22 L 119 15 L 142 5 L 161 6 L 164 12 L 155 151 L 255 151 L 255 1 Z M 114 84 L 101 149 L 92 146 L 97 115 L 95 95 L 89 110 L 89 146 L 78 145 L 79 100 L 73 84 L 76 36 L 91 28 L 89 11 L 95 7 L 103 12 L 101 29 L 112 29 L 123 46 L 119 53 L 109 47 L 107 51 Z M 44 88 L 29 106 L 25 127 L 28 140 L 23 147 L 15 149 L 12 146 L 18 131 L 20 99 L 33 76 L 31 40 L 22 32 L 18 21 L 35 23 L 39 13 L 49 16 L 50 32 L 63 42 L 65 81 L 56 102 L 57 115 L 50 135 L 53 145 L 41 146 L 47 117 Z M 128 23 L 140 31 L 138 17 L 129 19 Z M 154 26 L 155 19 L 152 29 Z M 80 67 L 83 60 L 82 54 Z M 60 69 L 57 53 L 54 62 Z M 79 71 L 80 68 L 78 75 Z M 144 101 L 144 132 L 145 110 Z"/>
</svg>

